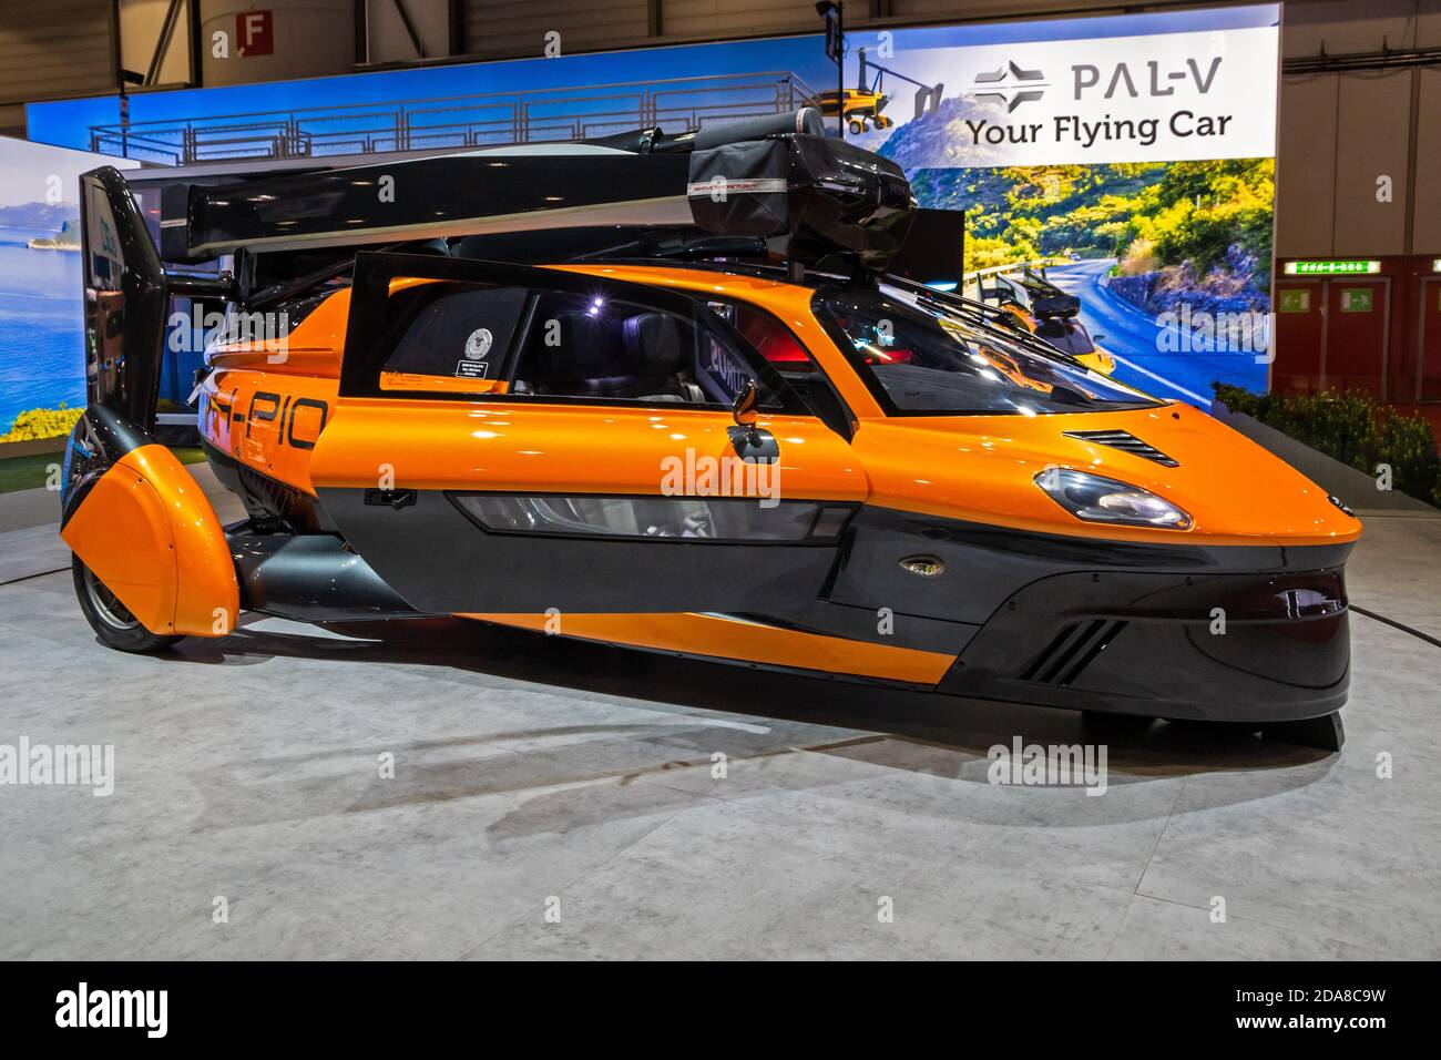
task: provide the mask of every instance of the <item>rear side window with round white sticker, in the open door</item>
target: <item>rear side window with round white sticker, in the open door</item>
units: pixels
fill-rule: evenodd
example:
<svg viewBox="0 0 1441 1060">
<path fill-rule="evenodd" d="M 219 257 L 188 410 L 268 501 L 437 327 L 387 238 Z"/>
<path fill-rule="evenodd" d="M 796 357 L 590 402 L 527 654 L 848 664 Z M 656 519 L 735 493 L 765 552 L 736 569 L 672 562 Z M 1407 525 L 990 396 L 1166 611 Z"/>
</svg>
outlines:
<svg viewBox="0 0 1441 1060">
<path fill-rule="evenodd" d="M 474 394 L 503 388 L 506 355 L 527 294 L 523 287 L 468 284 L 418 284 L 396 293 L 409 304 L 380 366 L 380 389 Z"/>
</svg>

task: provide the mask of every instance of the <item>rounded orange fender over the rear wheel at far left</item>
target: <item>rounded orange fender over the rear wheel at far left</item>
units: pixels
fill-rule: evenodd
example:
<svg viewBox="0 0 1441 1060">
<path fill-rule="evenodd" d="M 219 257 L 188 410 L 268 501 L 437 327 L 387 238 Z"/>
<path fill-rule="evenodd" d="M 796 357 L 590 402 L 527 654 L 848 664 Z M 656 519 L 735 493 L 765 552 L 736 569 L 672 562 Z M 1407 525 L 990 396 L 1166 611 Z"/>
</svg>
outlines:
<svg viewBox="0 0 1441 1060">
<path fill-rule="evenodd" d="M 235 629 L 241 593 L 225 531 L 164 446 L 121 457 L 61 536 L 151 633 Z"/>
</svg>

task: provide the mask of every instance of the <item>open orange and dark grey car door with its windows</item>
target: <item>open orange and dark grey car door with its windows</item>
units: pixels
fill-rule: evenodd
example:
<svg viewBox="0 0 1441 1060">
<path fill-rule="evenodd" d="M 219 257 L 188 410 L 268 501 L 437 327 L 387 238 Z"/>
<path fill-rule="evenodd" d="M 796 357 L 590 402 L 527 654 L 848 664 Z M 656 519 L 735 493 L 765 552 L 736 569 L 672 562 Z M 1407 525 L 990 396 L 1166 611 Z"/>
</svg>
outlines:
<svg viewBox="0 0 1441 1060">
<path fill-rule="evenodd" d="M 429 613 L 808 606 L 866 499 L 850 446 L 703 303 L 602 273 L 357 255 L 326 512 Z"/>
</svg>

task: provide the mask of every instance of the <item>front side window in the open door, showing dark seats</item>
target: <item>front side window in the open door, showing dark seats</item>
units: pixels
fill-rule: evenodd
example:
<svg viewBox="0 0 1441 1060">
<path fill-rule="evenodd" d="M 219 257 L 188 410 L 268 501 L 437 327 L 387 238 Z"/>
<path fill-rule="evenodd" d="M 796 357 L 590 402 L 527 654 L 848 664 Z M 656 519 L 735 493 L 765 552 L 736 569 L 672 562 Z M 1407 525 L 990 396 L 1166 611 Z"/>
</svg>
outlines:
<svg viewBox="0 0 1441 1060">
<path fill-rule="evenodd" d="M 699 303 L 682 316 L 638 301 L 540 291 L 529 320 L 514 394 L 729 407 L 757 379 L 761 405 L 781 405 L 778 381 Z"/>
</svg>

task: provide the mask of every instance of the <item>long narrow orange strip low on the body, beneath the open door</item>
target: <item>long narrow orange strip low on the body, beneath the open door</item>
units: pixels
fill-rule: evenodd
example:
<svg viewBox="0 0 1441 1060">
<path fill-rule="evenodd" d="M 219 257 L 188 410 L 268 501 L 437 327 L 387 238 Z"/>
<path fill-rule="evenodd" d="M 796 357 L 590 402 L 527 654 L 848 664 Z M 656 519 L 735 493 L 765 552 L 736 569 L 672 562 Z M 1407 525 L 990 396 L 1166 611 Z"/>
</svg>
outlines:
<svg viewBox="0 0 1441 1060">
<path fill-rule="evenodd" d="M 545 614 L 460 617 L 537 632 L 545 632 L 549 622 Z M 561 616 L 561 635 L 654 648 L 663 652 L 744 659 L 765 666 L 850 673 L 918 685 L 934 685 L 955 662 L 954 655 L 777 629 L 718 614 L 565 614 Z"/>
</svg>

